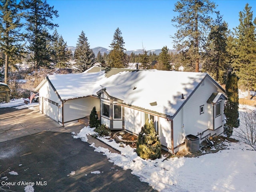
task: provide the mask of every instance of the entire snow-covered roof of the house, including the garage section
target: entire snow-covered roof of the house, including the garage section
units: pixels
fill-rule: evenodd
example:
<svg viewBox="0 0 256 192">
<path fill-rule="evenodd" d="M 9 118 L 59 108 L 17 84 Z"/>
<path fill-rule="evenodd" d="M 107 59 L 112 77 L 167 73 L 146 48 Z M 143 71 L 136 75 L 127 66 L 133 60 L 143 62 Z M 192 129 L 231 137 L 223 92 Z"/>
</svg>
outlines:
<svg viewBox="0 0 256 192">
<path fill-rule="evenodd" d="M 206 76 L 207 73 L 160 70 L 102 68 L 100 71 L 100 67 L 93 67 L 81 74 L 50 75 L 48 80 L 61 100 L 96 95 L 104 88 L 109 96 L 122 100 L 122 104 L 174 116 Z"/>
</svg>

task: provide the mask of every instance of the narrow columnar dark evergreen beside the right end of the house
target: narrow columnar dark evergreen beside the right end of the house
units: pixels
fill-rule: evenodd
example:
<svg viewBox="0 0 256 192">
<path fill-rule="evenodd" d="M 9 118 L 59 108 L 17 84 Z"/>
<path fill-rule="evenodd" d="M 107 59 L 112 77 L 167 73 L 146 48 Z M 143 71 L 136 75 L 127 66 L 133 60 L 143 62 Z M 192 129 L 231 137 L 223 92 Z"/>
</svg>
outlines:
<svg viewBox="0 0 256 192">
<path fill-rule="evenodd" d="M 224 129 L 228 137 L 232 135 L 233 128 L 239 127 L 239 97 L 238 97 L 238 77 L 234 72 L 229 71 L 226 81 L 226 101 L 224 113 L 226 117 L 226 128 Z"/>
</svg>

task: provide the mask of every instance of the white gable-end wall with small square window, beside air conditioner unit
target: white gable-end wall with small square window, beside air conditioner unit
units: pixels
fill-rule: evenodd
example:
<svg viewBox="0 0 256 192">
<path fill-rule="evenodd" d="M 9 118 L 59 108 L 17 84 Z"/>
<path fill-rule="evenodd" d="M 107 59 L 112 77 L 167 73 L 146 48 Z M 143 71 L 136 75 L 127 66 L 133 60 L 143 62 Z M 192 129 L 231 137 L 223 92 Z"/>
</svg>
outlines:
<svg viewBox="0 0 256 192">
<path fill-rule="evenodd" d="M 207 134 L 215 134 L 213 128 L 213 106 L 207 103 L 213 92 L 220 90 L 206 77 L 204 86 L 200 85 L 189 98 L 183 108 L 173 119 L 174 148 L 182 143 L 185 135 L 192 134 L 200 139 Z M 204 113 L 200 114 L 200 106 L 204 105 Z M 215 116 L 214 116 L 215 117 Z M 212 129 L 212 130 L 208 130 Z M 207 132 L 204 132 L 208 130 Z M 223 128 L 220 128 L 223 131 Z M 200 133 L 204 132 L 201 136 Z M 219 132 L 219 131 L 218 131 Z M 183 136 L 182 136 L 183 135 Z"/>
</svg>

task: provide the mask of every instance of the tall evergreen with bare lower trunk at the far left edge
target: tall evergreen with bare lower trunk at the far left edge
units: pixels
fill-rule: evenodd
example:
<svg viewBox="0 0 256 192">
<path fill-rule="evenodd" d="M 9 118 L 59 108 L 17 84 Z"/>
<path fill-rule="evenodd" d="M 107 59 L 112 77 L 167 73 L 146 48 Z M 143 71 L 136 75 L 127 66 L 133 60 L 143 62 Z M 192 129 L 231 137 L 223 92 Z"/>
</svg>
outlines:
<svg viewBox="0 0 256 192">
<path fill-rule="evenodd" d="M 0 50 L 5 55 L 5 84 L 8 81 L 9 64 L 14 64 L 14 60 L 23 53 L 23 34 L 20 33 L 22 14 L 16 0 L 0 0 Z"/>
</svg>

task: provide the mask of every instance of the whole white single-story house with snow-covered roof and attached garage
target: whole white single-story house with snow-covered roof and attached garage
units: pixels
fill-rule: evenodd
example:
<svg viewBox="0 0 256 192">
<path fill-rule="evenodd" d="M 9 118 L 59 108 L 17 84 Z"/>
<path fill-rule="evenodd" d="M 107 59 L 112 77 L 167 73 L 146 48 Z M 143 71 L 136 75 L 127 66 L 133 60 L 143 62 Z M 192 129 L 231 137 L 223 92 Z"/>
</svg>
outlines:
<svg viewBox="0 0 256 192">
<path fill-rule="evenodd" d="M 184 147 L 224 130 L 224 89 L 207 73 L 92 67 L 82 74 L 48 76 L 36 88 L 40 112 L 65 125 L 100 111 L 111 130 L 138 134 L 152 119 L 162 148 Z"/>
</svg>

